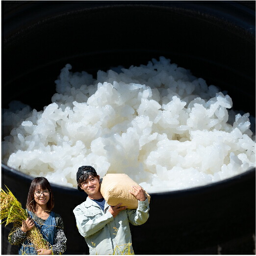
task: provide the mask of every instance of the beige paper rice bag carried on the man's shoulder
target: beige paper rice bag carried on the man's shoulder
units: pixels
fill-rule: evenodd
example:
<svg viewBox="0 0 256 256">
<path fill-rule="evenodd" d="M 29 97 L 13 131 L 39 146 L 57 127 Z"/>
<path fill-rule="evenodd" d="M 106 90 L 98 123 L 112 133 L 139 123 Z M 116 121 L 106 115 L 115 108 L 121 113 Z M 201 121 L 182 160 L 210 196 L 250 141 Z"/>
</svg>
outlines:
<svg viewBox="0 0 256 256">
<path fill-rule="evenodd" d="M 128 209 L 136 209 L 138 200 L 129 192 L 132 185 L 139 186 L 127 174 L 106 174 L 102 178 L 101 193 L 108 205 L 115 206 L 122 203 L 121 206 L 126 205 Z M 150 195 L 146 192 L 145 196 L 150 202 Z"/>
</svg>

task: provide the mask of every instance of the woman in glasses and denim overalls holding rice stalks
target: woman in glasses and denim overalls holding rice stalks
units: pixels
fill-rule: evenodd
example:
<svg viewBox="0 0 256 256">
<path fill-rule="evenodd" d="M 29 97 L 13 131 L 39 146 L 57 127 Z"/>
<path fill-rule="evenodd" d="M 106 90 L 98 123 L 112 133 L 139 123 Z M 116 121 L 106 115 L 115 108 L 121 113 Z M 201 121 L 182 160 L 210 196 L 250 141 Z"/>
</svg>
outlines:
<svg viewBox="0 0 256 256">
<path fill-rule="evenodd" d="M 29 217 L 23 221 L 20 228 L 9 234 L 10 243 L 20 246 L 19 255 L 59 255 L 65 252 L 67 239 L 63 231 L 63 221 L 59 214 L 52 211 L 53 206 L 54 199 L 49 181 L 44 177 L 33 179 L 26 201 Z M 34 226 L 41 231 L 51 248 L 36 251 L 29 243 L 26 232 Z"/>
</svg>

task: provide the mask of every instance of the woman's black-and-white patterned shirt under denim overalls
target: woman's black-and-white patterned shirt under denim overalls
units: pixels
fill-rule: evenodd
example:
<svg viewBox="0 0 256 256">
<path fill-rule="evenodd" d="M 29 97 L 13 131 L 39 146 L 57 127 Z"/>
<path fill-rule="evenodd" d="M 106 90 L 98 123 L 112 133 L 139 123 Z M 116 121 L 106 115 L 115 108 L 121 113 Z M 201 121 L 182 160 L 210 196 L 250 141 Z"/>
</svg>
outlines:
<svg viewBox="0 0 256 256">
<path fill-rule="evenodd" d="M 39 218 L 33 212 L 32 219 L 36 221 L 38 224 L 43 225 L 46 220 Z M 62 218 L 59 214 L 55 213 L 55 221 L 56 221 L 56 230 L 54 235 L 54 244 L 51 247 L 51 250 L 54 255 L 63 254 L 66 251 L 66 242 L 67 238 L 64 233 L 64 225 Z M 21 228 L 18 228 L 14 231 L 11 231 L 9 234 L 9 242 L 13 245 L 19 245 L 26 239 L 26 232 L 23 232 Z"/>
</svg>

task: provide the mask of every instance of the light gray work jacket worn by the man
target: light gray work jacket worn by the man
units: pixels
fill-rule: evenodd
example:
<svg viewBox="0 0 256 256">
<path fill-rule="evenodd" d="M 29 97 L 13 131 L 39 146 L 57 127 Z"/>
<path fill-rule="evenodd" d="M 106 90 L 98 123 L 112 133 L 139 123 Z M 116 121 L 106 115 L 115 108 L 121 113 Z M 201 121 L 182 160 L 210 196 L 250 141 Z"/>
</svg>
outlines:
<svg viewBox="0 0 256 256">
<path fill-rule="evenodd" d="M 137 209 L 120 211 L 114 218 L 105 203 L 104 211 L 87 197 L 73 210 L 79 233 L 85 238 L 90 255 L 121 254 L 131 243 L 129 222 L 141 225 L 149 218 L 149 202 L 139 201 Z M 128 247 L 127 247 L 128 248 Z M 132 246 L 130 250 L 133 251 Z"/>
</svg>

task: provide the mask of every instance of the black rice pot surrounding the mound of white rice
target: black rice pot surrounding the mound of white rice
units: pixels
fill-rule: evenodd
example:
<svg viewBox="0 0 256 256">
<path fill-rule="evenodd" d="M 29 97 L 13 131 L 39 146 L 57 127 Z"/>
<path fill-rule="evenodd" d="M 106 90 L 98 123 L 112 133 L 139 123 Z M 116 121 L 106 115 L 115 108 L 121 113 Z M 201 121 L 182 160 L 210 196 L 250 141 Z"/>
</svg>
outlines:
<svg viewBox="0 0 256 256">
<path fill-rule="evenodd" d="M 228 91 L 234 109 L 255 116 L 255 1 L 13 2 L 2 3 L 2 108 L 19 100 L 42 110 L 67 63 L 96 76 L 165 56 Z M 32 179 L 2 162 L 1 186 L 24 207 Z M 65 254 L 88 254 L 73 214 L 86 194 L 51 186 L 65 225 Z M 2 254 L 18 252 L 7 241 L 10 228 L 2 225 Z M 255 169 L 151 194 L 149 220 L 131 232 L 135 254 L 255 254 Z"/>
</svg>

